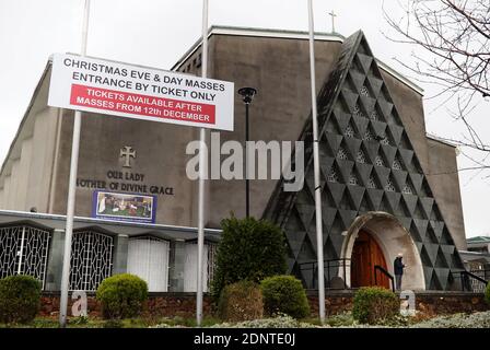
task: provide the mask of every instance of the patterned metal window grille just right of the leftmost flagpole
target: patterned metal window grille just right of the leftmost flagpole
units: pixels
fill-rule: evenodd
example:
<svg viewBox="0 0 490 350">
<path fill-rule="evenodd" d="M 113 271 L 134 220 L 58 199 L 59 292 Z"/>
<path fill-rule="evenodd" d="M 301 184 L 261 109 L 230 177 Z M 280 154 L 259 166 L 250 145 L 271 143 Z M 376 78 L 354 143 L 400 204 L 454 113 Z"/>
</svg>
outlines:
<svg viewBox="0 0 490 350">
<path fill-rule="evenodd" d="M 95 291 L 113 270 L 114 238 L 93 231 L 73 233 L 70 290 Z"/>
</svg>

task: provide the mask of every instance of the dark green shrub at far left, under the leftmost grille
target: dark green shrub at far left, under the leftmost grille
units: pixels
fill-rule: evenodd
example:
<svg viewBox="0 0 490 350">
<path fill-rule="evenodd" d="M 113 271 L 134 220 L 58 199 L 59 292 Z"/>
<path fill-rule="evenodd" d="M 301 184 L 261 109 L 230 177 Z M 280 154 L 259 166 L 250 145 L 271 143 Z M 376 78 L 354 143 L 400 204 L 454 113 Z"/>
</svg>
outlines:
<svg viewBox="0 0 490 350">
<path fill-rule="evenodd" d="M 40 282 L 31 276 L 0 280 L 0 323 L 28 323 L 40 307 Z"/>
</svg>

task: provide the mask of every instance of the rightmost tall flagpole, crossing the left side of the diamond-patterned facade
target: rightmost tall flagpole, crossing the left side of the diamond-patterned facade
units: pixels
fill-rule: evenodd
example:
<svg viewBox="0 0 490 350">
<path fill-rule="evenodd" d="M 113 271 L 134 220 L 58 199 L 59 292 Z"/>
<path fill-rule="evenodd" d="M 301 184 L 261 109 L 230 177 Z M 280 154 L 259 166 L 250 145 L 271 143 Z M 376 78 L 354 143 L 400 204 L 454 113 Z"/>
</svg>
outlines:
<svg viewBox="0 0 490 350">
<path fill-rule="evenodd" d="M 313 3 L 308 0 L 308 24 L 310 24 L 310 74 L 312 83 L 312 119 L 313 119 L 313 163 L 315 173 L 315 219 L 316 219 L 316 250 L 318 259 L 318 303 L 319 319 L 325 322 L 325 272 L 324 272 L 324 237 L 322 228 L 322 187 L 319 185 L 318 163 L 318 121 L 316 106 L 315 84 L 315 39 L 313 25 Z"/>
</svg>

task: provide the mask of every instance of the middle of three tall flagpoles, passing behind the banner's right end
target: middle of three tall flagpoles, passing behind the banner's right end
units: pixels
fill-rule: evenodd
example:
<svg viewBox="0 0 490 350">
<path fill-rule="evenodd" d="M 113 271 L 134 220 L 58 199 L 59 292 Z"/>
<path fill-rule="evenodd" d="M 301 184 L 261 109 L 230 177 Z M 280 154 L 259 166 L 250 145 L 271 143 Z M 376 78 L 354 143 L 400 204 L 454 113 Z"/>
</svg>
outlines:
<svg viewBox="0 0 490 350">
<path fill-rule="evenodd" d="M 202 78 L 208 75 L 208 0 L 202 1 Z M 199 197 L 198 197 L 198 228 L 197 228 L 197 293 L 196 293 L 196 322 L 202 322 L 202 280 L 203 280 L 203 250 L 205 250 L 205 177 L 206 168 L 206 129 L 199 132 Z"/>
</svg>

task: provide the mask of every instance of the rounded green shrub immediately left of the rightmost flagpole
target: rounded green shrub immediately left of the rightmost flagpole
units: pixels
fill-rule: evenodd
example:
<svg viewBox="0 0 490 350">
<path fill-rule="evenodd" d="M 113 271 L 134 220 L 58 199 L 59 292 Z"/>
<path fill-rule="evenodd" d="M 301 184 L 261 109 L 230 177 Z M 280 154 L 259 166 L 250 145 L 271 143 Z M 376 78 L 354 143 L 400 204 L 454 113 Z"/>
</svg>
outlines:
<svg viewBox="0 0 490 350">
<path fill-rule="evenodd" d="M 293 276 L 273 276 L 260 283 L 266 315 L 287 314 L 294 318 L 310 315 L 310 304 L 301 281 Z"/>
</svg>

